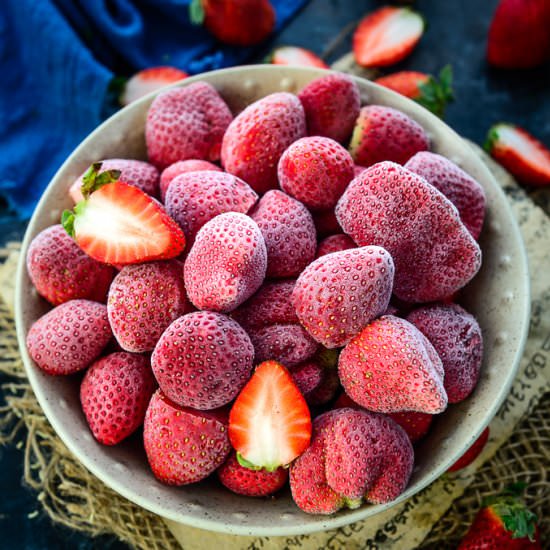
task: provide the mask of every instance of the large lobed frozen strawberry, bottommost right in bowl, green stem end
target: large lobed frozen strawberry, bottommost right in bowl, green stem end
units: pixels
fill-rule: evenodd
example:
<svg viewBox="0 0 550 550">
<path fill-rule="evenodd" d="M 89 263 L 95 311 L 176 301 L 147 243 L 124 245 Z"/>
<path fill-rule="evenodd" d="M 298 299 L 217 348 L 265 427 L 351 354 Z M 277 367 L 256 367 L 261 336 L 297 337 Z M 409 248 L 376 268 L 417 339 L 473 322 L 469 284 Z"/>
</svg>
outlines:
<svg viewBox="0 0 550 550">
<path fill-rule="evenodd" d="M 296 504 L 308 513 L 390 502 L 407 486 L 414 453 L 384 415 L 342 408 L 317 417 L 311 446 L 290 467 Z"/>
</svg>

